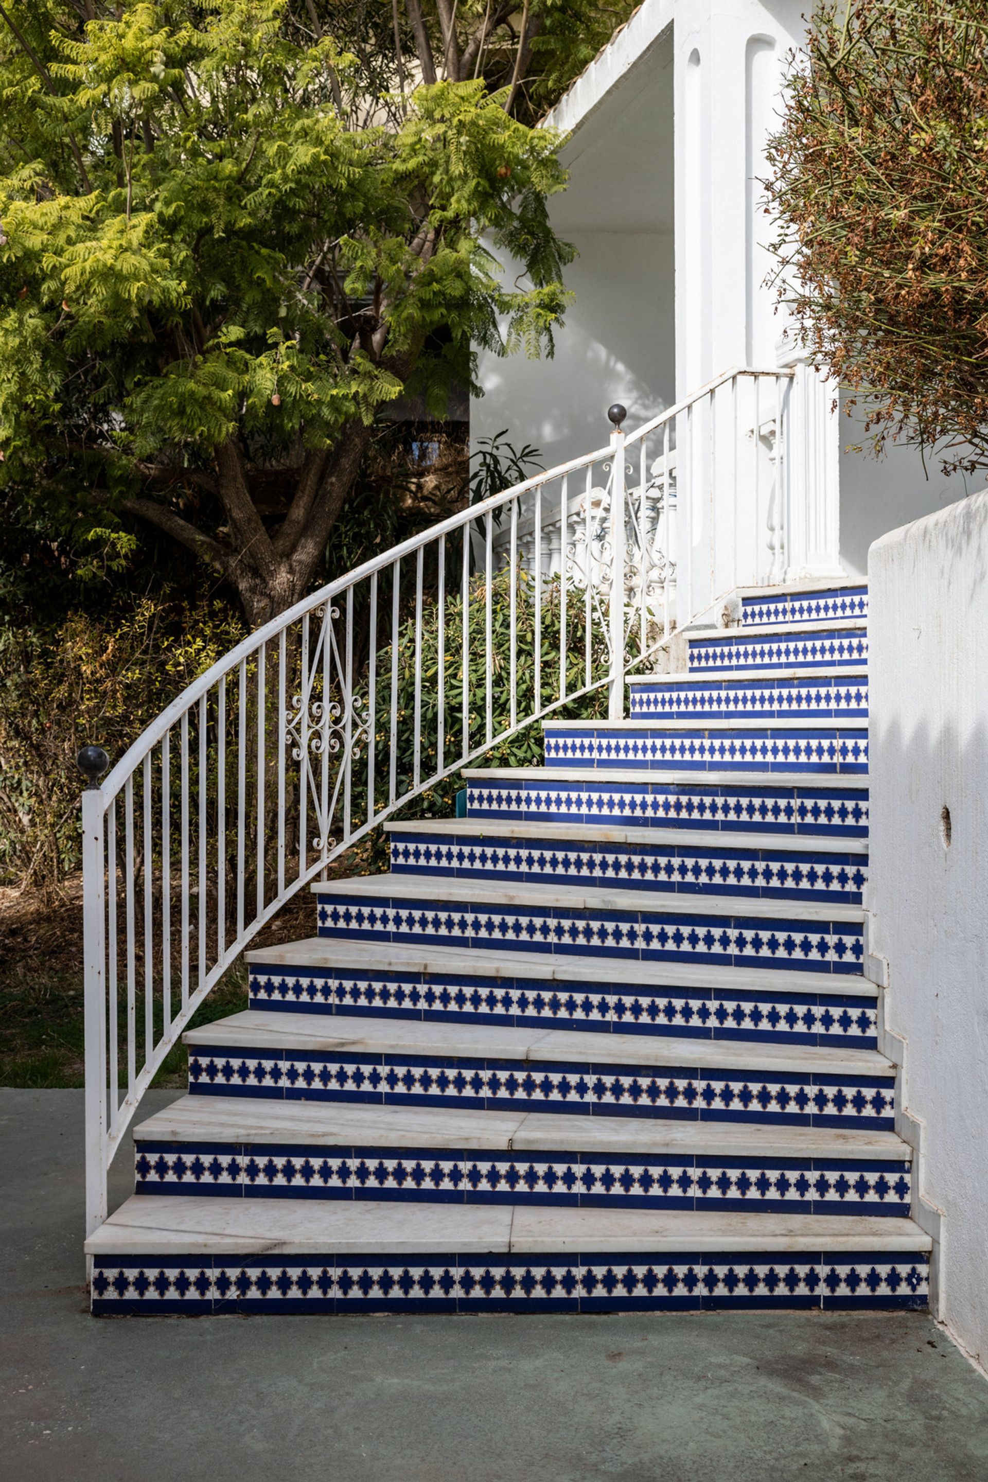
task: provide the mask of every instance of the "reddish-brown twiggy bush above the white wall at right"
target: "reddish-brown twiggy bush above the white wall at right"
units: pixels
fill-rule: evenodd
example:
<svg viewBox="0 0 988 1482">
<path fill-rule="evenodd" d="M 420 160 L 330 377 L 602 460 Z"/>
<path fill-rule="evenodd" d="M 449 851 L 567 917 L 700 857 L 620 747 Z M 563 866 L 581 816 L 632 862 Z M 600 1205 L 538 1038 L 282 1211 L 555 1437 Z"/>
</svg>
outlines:
<svg viewBox="0 0 988 1482">
<path fill-rule="evenodd" d="M 782 290 L 872 451 L 988 465 L 988 15 L 828 0 L 769 145 Z"/>
</svg>

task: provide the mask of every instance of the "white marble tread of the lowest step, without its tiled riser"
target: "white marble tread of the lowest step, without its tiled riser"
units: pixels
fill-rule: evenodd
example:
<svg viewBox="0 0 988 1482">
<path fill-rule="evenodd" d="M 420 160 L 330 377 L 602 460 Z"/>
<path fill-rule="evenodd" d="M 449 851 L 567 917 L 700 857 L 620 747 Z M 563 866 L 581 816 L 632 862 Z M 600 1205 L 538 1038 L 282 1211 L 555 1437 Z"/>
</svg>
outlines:
<svg viewBox="0 0 988 1482">
<path fill-rule="evenodd" d="M 87 1255 L 929 1251 L 908 1218 L 132 1194 Z"/>
</svg>

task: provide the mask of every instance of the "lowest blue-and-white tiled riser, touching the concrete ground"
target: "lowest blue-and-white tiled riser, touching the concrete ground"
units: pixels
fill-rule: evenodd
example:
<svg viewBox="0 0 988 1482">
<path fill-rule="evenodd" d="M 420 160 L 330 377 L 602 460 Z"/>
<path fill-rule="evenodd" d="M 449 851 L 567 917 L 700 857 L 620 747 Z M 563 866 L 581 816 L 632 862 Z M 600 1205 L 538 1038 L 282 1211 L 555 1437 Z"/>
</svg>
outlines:
<svg viewBox="0 0 988 1482">
<path fill-rule="evenodd" d="M 99 1315 L 924 1307 L 929 1263 L 889 1251 L 101 1255 L 92 1289 Z"/>
</svg>

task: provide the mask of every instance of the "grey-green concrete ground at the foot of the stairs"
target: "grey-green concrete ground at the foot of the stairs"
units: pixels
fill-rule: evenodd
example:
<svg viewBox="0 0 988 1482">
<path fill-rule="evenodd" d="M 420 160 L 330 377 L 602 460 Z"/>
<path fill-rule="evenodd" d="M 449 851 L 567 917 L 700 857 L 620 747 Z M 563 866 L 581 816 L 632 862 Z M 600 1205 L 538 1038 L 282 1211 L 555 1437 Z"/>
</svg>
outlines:
<svg viewBox="0 0 988 1482">
<path fill-rule="evenodd" d="M 89 1317 L 81 1095 L 0 1091 L 9 1482 L 988 1478 L 988 1384 L 917 1313 Z"/>
</svg>

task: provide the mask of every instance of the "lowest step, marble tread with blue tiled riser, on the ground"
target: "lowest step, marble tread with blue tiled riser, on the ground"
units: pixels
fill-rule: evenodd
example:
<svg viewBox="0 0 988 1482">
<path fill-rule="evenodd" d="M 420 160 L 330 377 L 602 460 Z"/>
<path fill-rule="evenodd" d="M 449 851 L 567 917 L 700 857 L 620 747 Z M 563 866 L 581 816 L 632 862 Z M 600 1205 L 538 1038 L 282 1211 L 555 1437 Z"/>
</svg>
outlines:
<svg viewBox="0 0 988 1482">
<path fill-rule="evenodd" d="M 904 1218 L 135 1194 L 86 1242 L 96 1313 L 921 1307 Z"/>
</svg>

